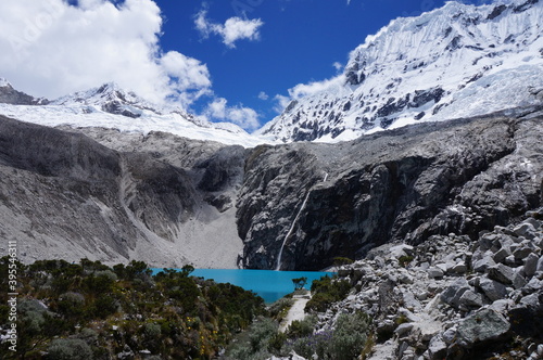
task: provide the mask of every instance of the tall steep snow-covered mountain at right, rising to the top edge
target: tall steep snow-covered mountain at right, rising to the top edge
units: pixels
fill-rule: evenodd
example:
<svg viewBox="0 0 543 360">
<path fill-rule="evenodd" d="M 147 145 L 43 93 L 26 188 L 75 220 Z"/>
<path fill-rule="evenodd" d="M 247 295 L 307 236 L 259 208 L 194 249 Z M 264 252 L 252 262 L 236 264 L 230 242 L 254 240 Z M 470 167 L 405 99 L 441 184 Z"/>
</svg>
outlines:
<svg viewBox="0 0 543 360">
<path fill-rule="evenodd" d="M 332 141 L 426 120 L 543 102 L 543 2 L 447 2 L 392 21 L 326 89 L 293 100 L 258 132 Z"/>
</svg>

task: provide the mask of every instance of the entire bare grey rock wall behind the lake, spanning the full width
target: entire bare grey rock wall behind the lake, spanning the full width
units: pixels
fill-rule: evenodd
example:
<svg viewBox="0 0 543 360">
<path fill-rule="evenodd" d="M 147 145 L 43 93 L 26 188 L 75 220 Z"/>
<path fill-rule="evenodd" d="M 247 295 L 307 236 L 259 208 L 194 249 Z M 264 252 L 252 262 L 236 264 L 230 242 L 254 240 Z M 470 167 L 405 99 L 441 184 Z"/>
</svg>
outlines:
<svg viewBox="0 0 543 360">
<path fill-rule="evenodd" d="M 541 120 L 525 108 L 245 150 L 1 117 L 0 235 L 25 261 L 282 270 L 432 234 L 475 239 L 541 206 Z"/>
</svg>

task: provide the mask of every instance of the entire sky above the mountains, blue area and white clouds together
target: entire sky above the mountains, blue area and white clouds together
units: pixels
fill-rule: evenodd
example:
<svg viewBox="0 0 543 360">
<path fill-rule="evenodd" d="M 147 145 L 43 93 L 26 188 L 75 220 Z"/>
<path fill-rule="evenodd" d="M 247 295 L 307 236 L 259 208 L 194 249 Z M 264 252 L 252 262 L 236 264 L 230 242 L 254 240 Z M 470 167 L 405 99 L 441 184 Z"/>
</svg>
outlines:
<svg viewBox="0 0 543 360">
<path fill-rule="evenodd" d="M 443 4 L 2 0 L 0 77 L 48 99 L 113 81 L 151 102 L 174 102 L 252 131 L 278 115 L 296 89 L 312 88 L 303 85 L 337 76 L 366 36 Z"/>
</svg>

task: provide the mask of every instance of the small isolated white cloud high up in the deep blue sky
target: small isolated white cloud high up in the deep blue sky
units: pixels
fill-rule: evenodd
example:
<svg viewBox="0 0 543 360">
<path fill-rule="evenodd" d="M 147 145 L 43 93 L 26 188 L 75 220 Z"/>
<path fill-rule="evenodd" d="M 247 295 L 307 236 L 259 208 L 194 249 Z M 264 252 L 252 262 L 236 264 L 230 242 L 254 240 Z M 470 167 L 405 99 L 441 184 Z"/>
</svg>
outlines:
<svg viewBox="0 0 543 360">
<path fill-rule="evenodd" d="M 258 40 L 260 27 L 264 25 L 260 18 L 242 20 L 238 16 L 228 18 L 223 25 L 212 23 L 206 16 L 207 11 L 202 10 L 194 17 L 194 25 L 200 34 L 204 38 L 211 34 L 218 35 L 223 38 L 223 43 L 231 49 L 236 48 L 235 42 L 238 40 Z"/>
</svg>

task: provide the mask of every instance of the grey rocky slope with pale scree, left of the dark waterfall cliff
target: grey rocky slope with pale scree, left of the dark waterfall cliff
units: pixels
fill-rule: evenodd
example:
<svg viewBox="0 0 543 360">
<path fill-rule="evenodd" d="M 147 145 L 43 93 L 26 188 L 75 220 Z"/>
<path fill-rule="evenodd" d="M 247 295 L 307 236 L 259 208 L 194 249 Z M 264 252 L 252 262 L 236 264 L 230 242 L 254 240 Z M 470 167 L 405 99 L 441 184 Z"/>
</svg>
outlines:
<svg viewBox="0 0 543 360">
<path fill-rule="evenodd" d="M 94 131 L 115 146 L 0 116 L 0 235 L 21 260 L 236 266 L 241 146 Z"/>
</svg>

